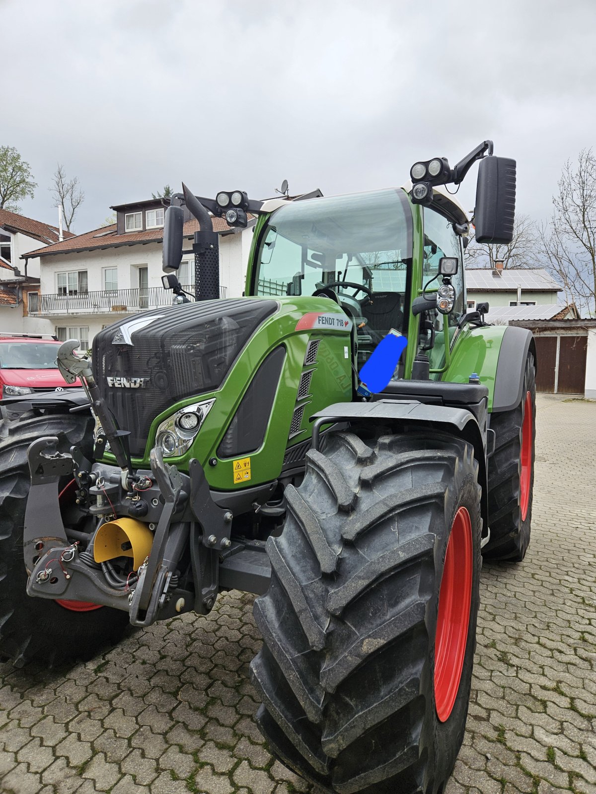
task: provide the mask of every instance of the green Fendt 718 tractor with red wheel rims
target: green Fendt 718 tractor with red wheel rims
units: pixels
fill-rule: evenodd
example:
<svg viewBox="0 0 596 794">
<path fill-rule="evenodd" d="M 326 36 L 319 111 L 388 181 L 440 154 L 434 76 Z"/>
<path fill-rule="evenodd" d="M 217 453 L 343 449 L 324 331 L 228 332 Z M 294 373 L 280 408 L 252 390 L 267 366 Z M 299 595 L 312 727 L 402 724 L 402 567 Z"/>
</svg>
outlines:
<svg viewBox="0 0 596 794">
<path fill-rule="evenodd" d="M 173 305 L 102 330 L 91 360 L 65 342 L 83 388 L 2 402 L 4 657 L 90 657 L 129 623 L 253 593 L 272 753 L 327 792 L 443 791 L 481 552 L 521 560 L 532 514 L 534 341 L 468 310 L 470 219 L 445 187 L 476 160 L 476 240 L 511 241 L 516 164 L 491 141 L 400 189 L 183 185 L 164 219 Z M 253 224 L 246 297 L 219 299 L 214 216 Z M 389 333 L 407 345 L 377 393 L 359 373 Z"/>
</svg>

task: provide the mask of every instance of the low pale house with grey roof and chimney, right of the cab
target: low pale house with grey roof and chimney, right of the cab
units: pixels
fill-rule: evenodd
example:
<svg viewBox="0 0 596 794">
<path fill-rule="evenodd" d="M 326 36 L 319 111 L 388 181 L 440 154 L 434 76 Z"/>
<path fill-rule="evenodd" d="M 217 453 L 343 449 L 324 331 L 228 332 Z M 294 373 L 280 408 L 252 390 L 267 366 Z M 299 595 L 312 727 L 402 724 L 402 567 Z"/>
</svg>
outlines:
<svg viewBox="0 0 596 794">
<path fill-rule="evenodd" d="M 466 268 L 468 309 L 486 301 L 490 306 L 487 319 L 500 324 L 559 315 L 579 317 L 575 305 L 567 305 L 560 298 L 563 290 L 548 271 L 504 269 L 502 262 L 495 264 L 493 269 Z"/>
</svg>

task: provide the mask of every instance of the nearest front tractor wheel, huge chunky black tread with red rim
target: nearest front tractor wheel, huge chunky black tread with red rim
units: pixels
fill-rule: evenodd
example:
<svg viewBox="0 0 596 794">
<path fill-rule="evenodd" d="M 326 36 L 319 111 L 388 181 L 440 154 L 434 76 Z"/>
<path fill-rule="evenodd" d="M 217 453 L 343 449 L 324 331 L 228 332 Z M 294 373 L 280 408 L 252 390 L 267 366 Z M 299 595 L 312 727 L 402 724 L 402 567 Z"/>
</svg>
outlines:
<svg viewBox="0 0 596 794">
<path fill-rule="evenodd" d="M 285 492 L 271 584 L 254 605 L 257 722 L 326 791 L 437 794 L 470 698 L 478 464 L 447 434 L 365 439 L 328 434 Z"/>
</svg>

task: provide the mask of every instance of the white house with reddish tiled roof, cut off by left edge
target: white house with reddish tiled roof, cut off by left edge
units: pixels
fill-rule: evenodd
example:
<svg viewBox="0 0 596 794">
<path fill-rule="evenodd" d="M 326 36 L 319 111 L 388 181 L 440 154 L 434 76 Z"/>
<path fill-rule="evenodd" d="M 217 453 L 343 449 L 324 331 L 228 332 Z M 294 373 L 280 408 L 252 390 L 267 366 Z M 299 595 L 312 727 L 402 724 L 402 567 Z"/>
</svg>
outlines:
<svg viewBox="0 0 596 794">
<path fill-rule="evenodd" d="M 74 237 L 64 232 L 63 238 Z M 53 333 L 52 323 L 38 314 L 40 259 L 33 250 L 60 241 L 56 226 L 0 210 L 0 331 Z M 23 268 L 23 258 L 25 266 Z M 21 269 L 23 272 L 21 272 Z M 29 307 L 33 313 L 29 314 Z"/>
</svg>

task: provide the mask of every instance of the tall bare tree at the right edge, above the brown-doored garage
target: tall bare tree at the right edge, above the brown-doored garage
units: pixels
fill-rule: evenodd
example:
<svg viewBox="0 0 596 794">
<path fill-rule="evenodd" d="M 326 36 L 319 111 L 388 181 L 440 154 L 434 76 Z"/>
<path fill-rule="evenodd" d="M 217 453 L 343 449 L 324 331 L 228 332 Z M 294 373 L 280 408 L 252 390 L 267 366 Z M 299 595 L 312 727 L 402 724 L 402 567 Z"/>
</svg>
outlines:
<svg viewBox="0 0 596 794">
<path fill-rule="evenodd" d="M 596 156 L 579 152 L 563 166 L 549 225 L 540 228 L 548 268 L 563 282 L 567 302 L 594 312 L 596 303 Z"/>
</svg>

